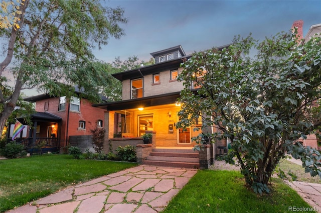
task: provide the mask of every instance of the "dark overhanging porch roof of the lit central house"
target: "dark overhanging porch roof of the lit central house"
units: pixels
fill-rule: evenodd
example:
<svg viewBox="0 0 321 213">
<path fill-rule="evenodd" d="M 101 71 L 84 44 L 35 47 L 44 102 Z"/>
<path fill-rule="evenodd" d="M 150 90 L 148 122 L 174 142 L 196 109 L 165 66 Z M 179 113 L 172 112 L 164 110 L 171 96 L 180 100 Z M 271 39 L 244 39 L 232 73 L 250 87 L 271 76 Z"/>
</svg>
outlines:
<svg viewBox="0 0 321 213">
<path fill-rule="evenodd" d="M 123 109 L 133 109 L 139 107 L 148 107 L 148 106 L 156 106 L 156 105 L 164 105 L 175 103 L 177 98 L 180 97 L 180 91 L 171 92 L 167 94 L 159 94 L 148 97 L 141 97 L 136 99 L 129 100 L 120 100 L 115 102 L 107 102 L 107 103 L 98 103 L 93 104 L 93 106 L 98 108 L 103 108 L 109 111 L 123 110 Z"/>
</svg>

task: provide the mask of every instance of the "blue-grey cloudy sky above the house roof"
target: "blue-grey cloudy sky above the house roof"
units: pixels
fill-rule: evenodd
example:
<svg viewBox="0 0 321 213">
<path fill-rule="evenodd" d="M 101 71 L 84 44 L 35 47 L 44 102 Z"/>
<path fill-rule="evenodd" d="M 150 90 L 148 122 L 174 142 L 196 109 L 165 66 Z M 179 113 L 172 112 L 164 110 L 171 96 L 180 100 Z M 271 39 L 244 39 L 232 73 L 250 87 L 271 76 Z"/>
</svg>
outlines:
<svg viewBox="0 0 321 213">
<path fill-rule="evenodd" d="M 110 38 L 96 57 L 112 62 L 136 55 L 148 60 L 150 52 L 181 44 L 187 54 L 231 43 L 234 35 L 263 40 L 288 31 L 303 20 L 303 35 L 321 23 L 321 0 L 107 0 L 124 8 L 126 35 Z"/>
</svg>

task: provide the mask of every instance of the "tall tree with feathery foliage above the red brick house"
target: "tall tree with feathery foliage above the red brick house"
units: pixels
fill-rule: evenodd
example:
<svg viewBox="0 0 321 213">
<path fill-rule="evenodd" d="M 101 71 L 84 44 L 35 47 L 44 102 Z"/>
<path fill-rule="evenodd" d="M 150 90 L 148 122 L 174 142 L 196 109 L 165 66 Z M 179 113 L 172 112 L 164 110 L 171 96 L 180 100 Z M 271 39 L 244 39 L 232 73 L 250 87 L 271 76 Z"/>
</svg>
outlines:
<svg viewBox="0 0 321 213">
<path fill-rule="evenodd" d="M 2 5 L 12 5 L 12 0 L 5 1 L 9 4 Z M 94 94 L 110 75 L 107 66 L 95 60 L 92 49 L 107 44 L 110 36 L 124 35 L 119 23 L 127 22 L 122 8 L 104 7 L 100 2 L 19 0 L 2 7 L 1 18 L 14 14 L 14 22 L 0 28 L 0 36 L 7 40 L 0 63 L 0 132 L 24 88 L 65 95 L 77 84 L 97 99 Z M 14 76 L 13 87 L 5 71 Z"/>
</svg>

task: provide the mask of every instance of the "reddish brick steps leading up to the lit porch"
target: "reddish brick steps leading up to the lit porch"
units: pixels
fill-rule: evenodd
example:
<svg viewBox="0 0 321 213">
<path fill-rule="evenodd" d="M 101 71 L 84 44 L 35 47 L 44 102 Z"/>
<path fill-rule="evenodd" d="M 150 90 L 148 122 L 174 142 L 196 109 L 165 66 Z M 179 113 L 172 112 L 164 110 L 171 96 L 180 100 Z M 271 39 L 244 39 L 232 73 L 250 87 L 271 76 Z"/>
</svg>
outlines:
<svg viewBox="0 0 321 213">
<path fill-rule="evenodd" d="M 143 161 L 148 165 L 199 168 L 198 151 L 182 148 L 155 148 Z"/>
</svg>

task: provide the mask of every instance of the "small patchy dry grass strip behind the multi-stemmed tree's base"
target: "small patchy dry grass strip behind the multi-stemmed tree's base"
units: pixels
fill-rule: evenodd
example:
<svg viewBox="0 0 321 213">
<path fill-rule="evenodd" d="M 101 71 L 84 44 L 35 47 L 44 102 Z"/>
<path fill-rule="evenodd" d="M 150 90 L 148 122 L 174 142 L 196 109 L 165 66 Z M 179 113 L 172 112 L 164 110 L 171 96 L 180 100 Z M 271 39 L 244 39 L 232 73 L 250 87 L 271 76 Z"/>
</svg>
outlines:
<svg viewBox="0 0 321 213">
<path fill-rule="evenodd" d="M 283 170 L 284 173 L 290 171 L 297 175 L 297 181 L 321 183 L 321 178 L 318 175 L 312 177 L 309 172 L 304 172 L 302 165 L 298 165 L 286 159 L 280 162 L 279 168 Z"/>
</svg>

